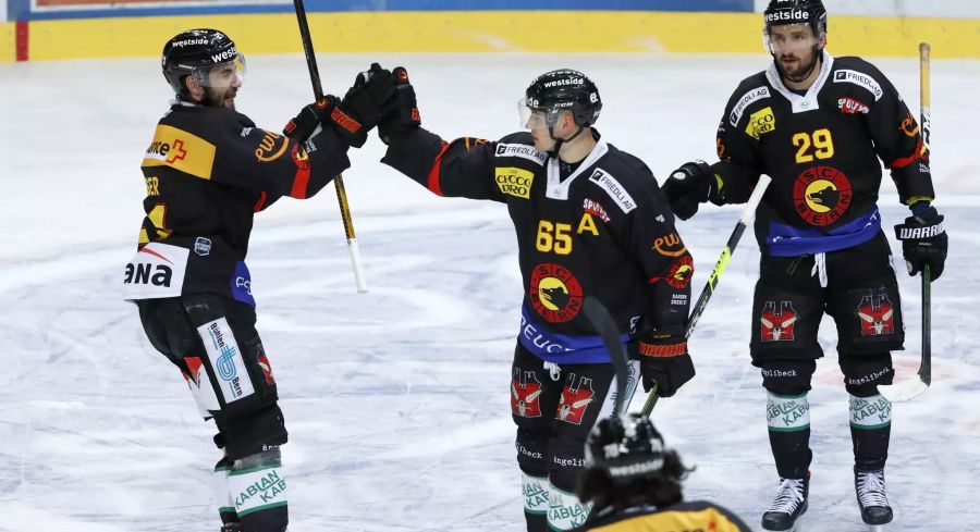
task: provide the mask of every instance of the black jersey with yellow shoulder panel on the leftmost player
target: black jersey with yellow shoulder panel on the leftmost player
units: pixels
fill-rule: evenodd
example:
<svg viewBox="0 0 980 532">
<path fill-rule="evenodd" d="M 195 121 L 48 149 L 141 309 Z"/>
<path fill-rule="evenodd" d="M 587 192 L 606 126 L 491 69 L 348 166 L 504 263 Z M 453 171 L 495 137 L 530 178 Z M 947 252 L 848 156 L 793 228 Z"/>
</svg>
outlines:
<svg viewBox="0 0 980 532">
<path fill-rule="evenodd" d="M 143 159 L 146 218 L 125 298 L 211 293 L 255 306 L 253 216 L 323 188 L 350 166 L 346 149 L 331 131 L 301 146 L 231 109 L 175 103 Z"/>
</svg>

